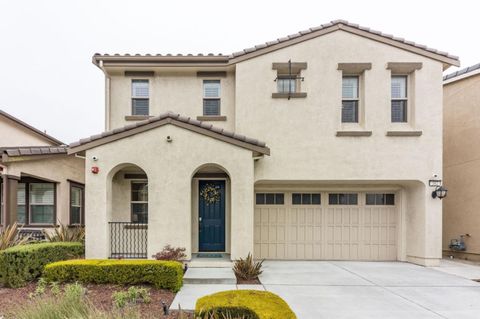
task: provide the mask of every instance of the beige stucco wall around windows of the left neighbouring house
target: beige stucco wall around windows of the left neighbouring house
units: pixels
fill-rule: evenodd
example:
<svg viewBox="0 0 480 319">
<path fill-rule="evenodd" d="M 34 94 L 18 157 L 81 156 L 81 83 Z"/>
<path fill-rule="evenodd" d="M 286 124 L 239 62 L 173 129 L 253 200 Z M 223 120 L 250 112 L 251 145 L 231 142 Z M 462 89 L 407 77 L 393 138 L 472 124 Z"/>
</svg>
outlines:
<svg viewBox="0 0 480 319">
<path fill-rule="evenodd" d="M 5 163 L 9 175 L 29 175 L 57 183 L 57 219 L 62 224 L 70 221 L 70 182 L 85 183 L 85 162 L 74 155 L 15 158 Z"/>
</svg>

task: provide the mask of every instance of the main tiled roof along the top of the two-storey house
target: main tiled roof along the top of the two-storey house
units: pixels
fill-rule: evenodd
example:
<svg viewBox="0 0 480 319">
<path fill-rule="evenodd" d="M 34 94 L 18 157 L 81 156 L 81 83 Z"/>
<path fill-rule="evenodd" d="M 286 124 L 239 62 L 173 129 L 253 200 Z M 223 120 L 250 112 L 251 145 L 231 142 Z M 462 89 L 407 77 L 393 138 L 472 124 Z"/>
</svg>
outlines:
<svg viewBox="0 0 480 319">
<path fill-rule="evenodd" d="M 370 29 L 368 27 L 360 26 L 355 23 L 350 23 L 346 20 L 334 20 L 326 24 L 322 24 L 318 27 L 309 28 L 304 31 L 300 31 L 291 35 L 288 35 L 283 38 L 279 38 L 273 41 L 265 42 L 259 45 L 256 45 L 251 48 L 243 49 L 241 51 L 232 53 L 230 55 L 223 54 L 213 54 L 209 53 L 204 54 L 100 54 L 96 53 L 92 61 L 95 65 L 100 66 L 100 64 L 107 65 L 111 64 L 122 64 L 122 63 L 135 63 L 142 62 L 145 63 L 186 63 L 186 64 L 205 64 L 210 65 L 231 65 L 246 59 L 253 58 L 255 56 L 265 54 L 274 50 L 278 50 L 290 45 L 294 45 L 299 42 L 303 42 L 318 36 L 328 34 L 337 30 L 343 30 L 350 32 L 359 36 L 369 38 L 371 40 L 385 43 L 406 51 L 410 51 L 416 54 L 420 54 L 434 60 L 438 60 L 444 63 L 446 68 L 449 65 L 459 66 L 460 61 L 457 56 L 451 55 L 447 52 L 439 51 L 427 47 L 426 45 L 418 44 L 412 41 L 405 40 L 403 38 L 395 37 L 391 34 L 385 34 L 377 30 Z"/>
</svg>

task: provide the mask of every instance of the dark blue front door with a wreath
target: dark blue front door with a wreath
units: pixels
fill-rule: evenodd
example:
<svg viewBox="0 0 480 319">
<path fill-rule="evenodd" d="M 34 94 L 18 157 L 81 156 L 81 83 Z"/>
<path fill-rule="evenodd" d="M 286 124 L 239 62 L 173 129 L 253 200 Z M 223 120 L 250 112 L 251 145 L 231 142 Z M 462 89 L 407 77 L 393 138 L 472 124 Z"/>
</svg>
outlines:
<svg viewBox="0 0 480 319">
<path fill-rule="evenodd" d="M 225 251 L 225 181 L 199 181 L 200 251 Z"/>
</svg>

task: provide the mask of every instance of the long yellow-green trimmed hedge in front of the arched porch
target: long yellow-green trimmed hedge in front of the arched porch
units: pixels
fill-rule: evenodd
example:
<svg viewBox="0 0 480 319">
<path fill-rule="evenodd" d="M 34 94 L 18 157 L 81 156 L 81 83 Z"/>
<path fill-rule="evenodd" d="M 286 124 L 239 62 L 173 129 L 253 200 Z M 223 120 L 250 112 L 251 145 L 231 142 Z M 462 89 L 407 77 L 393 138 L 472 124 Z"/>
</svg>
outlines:
<svg viewBox="0 0 480 319">
<path fill-rule="evenodd" d="M 47 281 L 79 281 L 95 284 L 152 284 L 177 292 L 182 287 L 182 264 L 162 260 L 69 260 L 45 267 Z"/>
</svg>

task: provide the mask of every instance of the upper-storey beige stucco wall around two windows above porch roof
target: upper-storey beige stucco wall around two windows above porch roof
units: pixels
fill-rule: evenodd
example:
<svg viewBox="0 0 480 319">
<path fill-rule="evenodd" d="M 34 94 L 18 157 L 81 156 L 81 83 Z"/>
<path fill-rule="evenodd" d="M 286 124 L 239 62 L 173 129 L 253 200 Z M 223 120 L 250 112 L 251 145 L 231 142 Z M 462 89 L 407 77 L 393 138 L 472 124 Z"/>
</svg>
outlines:
<svg viewBox="0 0 480 319">
<path fill-rule="evenodd" d="M 201 78 L 196 71 L 157 71 L 153 77 L 130 77 L 112 75 L 110 77 L 110 117 L 107 129 L 131 124 L 125 116 L 132 114 L 132 79 L 150 81 L 150 115 L 157 116 L 173 111 L 183 116 L 197 118 L 203 115 L 203 80 L 220 80 L 220 112 L 227 121 L 212 122 L 215 126 L 234 130 L 234 73 L 226 77 Z"/>
</svg>

